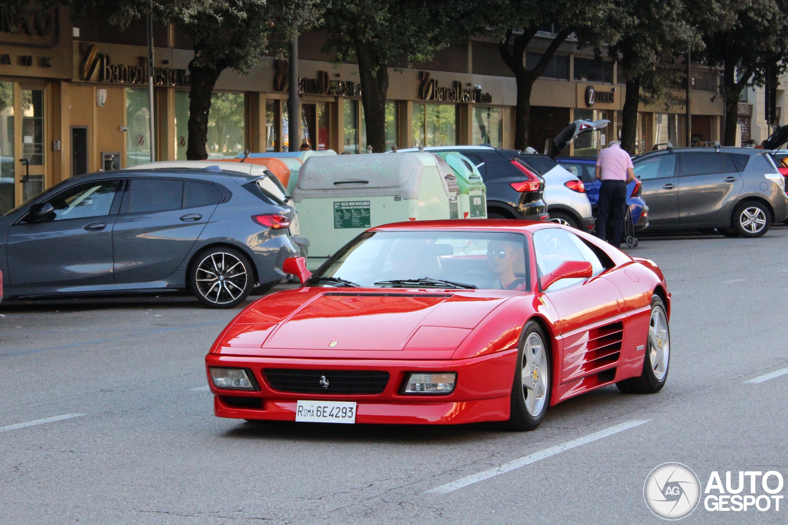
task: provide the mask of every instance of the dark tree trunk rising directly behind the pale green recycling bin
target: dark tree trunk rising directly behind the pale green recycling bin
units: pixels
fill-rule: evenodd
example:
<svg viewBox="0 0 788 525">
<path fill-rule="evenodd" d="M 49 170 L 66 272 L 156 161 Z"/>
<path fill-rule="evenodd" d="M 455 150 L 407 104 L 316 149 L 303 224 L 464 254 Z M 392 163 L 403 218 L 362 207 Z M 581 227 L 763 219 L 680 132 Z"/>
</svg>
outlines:
<svg viewBox="0 0 788 525">
<path fill-rule="evenodd" d="M 361 103 L 364 106 L 366 143 L 373 153 L 386 150 L 386 95 L 388 94 L 388 64 L 381 62 L 373 46 L 355 38 L 355 54 L 359 59 Z M 362 152 L 366 153 L 366 152 Z"/>
</svg>

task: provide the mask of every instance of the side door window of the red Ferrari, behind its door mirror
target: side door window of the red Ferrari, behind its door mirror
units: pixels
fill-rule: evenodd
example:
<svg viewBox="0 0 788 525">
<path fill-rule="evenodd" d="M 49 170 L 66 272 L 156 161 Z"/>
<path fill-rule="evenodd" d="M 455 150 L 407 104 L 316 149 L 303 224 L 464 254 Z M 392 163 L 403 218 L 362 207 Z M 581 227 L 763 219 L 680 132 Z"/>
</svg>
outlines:
<svg viewBox="0 0 788 525">
<path fill-rule="evenodd" d="M 588 261 L 591 263 L 594 275 L 604 270 L 604 265 L 600 262 L 599 257 L 588 246 L 585 246 L 585 242 L 582 242 L 577 235 L 561 228 L 553 227 L 537 231 L 533 234 L 533 248 L 537 256 L 539 277 L 552 272 L 565 261 Z M 584 280 L 582 278 L 561 279 L 545 291 L 571 287 Z"/>
</svg>

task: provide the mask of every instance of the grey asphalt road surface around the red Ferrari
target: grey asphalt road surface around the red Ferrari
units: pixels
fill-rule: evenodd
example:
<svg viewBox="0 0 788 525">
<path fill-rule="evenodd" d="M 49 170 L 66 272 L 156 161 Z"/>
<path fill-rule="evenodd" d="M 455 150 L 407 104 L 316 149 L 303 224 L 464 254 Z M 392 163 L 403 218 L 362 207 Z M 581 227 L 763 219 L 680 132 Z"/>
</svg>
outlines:
<svg viewBox="0 0 788 525">
<path fill-rule="evenodd" d="M 210 392 L 195 389 L 237 309 L 3 302 L 0 523 L 662 523 L 643 484 L 667 461 L 692 468 L 701 489 L 712 471 L 723 485 L 733 471 L 734 486 L 738 471 L 780 471 L 788 496 L 788 375 L 745 383 L 788 367 L 786 246 L 782 226 L 752 240 L 641 238 L 630 253 L 660 264 L 674 294 L 667 386 L 576 397 L 527 433 L 218 419 Z M 53 416 L 69 417 L 14 426 Z M 623 423 L 632 427 L 550 448 Z M 755 488 L 769 495 L 760 479 Z M 786 520 L 785 499 L 779 512 L 710 512 L 701 501 L 682 523 Z"/>
</svg>

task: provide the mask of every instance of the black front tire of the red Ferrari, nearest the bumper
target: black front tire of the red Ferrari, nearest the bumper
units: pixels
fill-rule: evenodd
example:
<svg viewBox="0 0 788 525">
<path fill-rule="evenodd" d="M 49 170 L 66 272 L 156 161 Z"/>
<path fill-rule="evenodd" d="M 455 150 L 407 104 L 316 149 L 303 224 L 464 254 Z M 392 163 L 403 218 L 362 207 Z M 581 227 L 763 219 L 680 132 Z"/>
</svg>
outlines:
<svg viewBox="0 0 788 525">
<path fill-rule="evenodd" d="M 535 370 L 529 367 L 528 360 L 526 359 L 526 352 L 533 349 L 529 342 L 533 342 L 532 336 L 535 336 L 541 341 L 541 352 L 544 354 L 544 360 L 541 360 L 542 365 L 538 366 Z M 530 364 L 533 364 L 533 354 Z M 543 369 L 544 367 L 544 369 Z M 520 342 L 518 344 L 517 352 L 517 365 L 515 367 L 515 380 L 511 385 L 511 401 L 509 409 L 509 420 L 504 423 L 504 427 L 511 431 L 533 431 L 539 426 L 539 423 L 545 419 L 548 406 L 550 405 L 551 383 L 552 383 L 552 354 L 550 352 L 550 339 L 545 335 L 545 331 L 536 321 L 528 321 L 526 326 L 522 329 L 520 335 Z M 532 385 L 535 386 L 533 390 L 528 389 L 522 381 L 523 369 L 530 369 L 531 375 L 536 378 Z M 543 373 L 544 372 L 544 373 Z M 529 398 L 528 395 L 534 392 L 541 391 L 541 397 L 538 395 Z M 536 402 L 534 402 L 536 401 Z M 541 401 L 541 404 L 537 402 Z M 529 407 L 530 402 L 532 403 Z"/>
</svg>

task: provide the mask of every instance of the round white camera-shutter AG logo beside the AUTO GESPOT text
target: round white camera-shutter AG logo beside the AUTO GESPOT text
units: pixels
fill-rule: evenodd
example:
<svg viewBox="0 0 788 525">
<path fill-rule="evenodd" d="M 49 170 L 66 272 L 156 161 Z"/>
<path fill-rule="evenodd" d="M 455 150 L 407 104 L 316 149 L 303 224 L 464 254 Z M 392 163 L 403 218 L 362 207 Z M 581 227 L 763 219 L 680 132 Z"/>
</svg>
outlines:
<svg viewBox="0 0 788 525">
<path fill-rule="evenodd" d="M 701 482 L 686 465 L 663 463 L 646 476 L 643 499 L 662 519 L 686 518 L 701 501 Z"/>
</svg>

